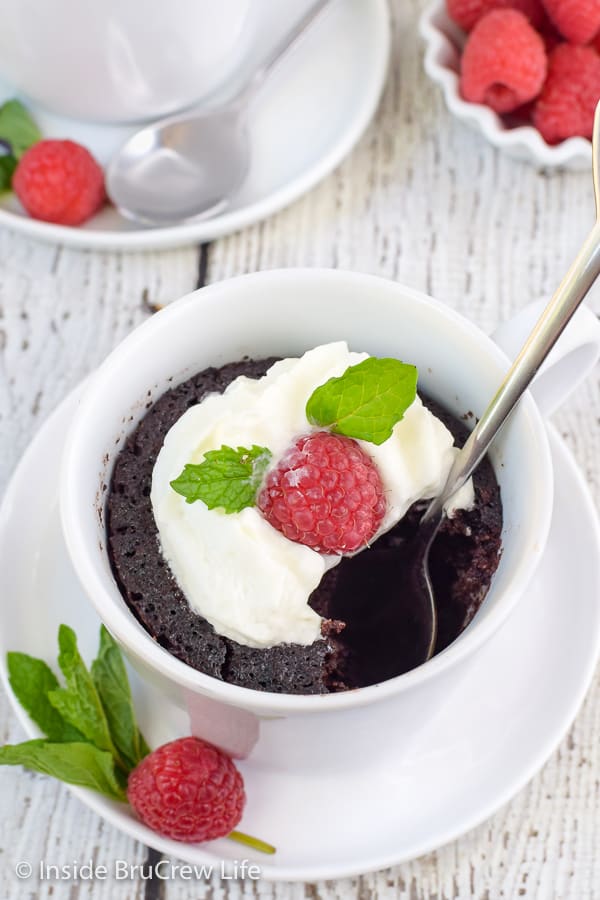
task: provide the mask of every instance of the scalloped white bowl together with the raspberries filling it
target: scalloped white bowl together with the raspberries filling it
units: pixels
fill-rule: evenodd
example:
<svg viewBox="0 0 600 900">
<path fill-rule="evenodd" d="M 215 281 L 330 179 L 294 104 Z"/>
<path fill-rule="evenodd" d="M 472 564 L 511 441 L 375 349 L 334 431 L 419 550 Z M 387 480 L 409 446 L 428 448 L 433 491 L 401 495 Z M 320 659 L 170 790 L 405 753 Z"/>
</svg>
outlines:
<svg viewBox="0 0 600 900">
<path fill-rule="evenodd" d="M 589 171 L 600 67 L 590 56 L 596 50 L 589 46 L 577 48 L 577 60 L 564 77 L 565 66 L 554 62 L 555 50 L 560 50 L 560 57 L 561 48 L 571 48 L 556 30 L 558 22 L 564 27 L 559 8 L 569 22 L 582 21 L 564 14 L 563 4 L 569 2 L 557 0 L 551 17 L 550 0 L 433 0 L 421 16 L 419 30 L 425 42 L 425 70 L 442 88 L 454 116 L 515 159 L 544 169 Z M 583 5 L 579 4 L 580 13 Z M 593 28 L 600 8 L 596 9 L 597 0 L 589 4 L 586 0 L 585 5 L 586 26 Z M 494 102 L 498 98 L 500 102 Z"/>
</svg>

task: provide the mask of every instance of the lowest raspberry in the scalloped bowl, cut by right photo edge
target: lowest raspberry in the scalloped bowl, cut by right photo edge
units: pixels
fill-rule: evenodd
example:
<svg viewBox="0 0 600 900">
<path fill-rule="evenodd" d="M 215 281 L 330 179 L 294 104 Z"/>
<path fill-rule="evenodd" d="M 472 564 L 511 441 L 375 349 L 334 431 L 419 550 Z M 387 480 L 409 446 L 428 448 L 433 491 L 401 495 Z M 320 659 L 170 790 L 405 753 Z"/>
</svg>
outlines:
<svg viewBox="0 0 600 900">
<path fill-rule="evenodd" d="M 560 44 L 548 57 L 548 77 L 533 110 L 533 124 L 549 144 L 592 137 L 600 100 L 600 56 L 592 47 Z"/>
</svg>

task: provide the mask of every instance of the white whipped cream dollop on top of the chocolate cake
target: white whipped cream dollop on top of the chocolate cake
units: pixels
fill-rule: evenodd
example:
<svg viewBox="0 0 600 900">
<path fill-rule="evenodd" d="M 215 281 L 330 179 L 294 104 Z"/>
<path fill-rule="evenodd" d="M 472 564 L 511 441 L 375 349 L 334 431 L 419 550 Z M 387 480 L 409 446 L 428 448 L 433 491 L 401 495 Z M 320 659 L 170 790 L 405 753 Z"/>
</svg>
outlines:
<svg viewBox="0 0 600 900">
<path fill-rule="evenodd" d="M 312 644 L 321 635 L 321 618 L 308 598 L 339 557 L 288 540 L 254 507 L 227 514 L 201 501 L 186 503 L 170 482 L 186 463 L 201 463 L 208 450 L 223 444 L 268 447 L 276 465 L 298 437 L 318 430 L 305 412 L 315 388 L 367 356 L 344 342 L 325 344 L 300 359 L 275 363 L 262 378 L 242 375 L 224 393 L 187 410 L 167 433 L 151 491 L 162 552 L 192 608 L 219 634 L 251 647 Z M 385 443 L 359 443 L 379 467 L 385 489 L 379 534 L 416 500 L 443 488 L 456 453 L 451 433 L 418 397 Z M 452 508 L 468 508 L 473 501 L 469 481 Z"/>
</svg>

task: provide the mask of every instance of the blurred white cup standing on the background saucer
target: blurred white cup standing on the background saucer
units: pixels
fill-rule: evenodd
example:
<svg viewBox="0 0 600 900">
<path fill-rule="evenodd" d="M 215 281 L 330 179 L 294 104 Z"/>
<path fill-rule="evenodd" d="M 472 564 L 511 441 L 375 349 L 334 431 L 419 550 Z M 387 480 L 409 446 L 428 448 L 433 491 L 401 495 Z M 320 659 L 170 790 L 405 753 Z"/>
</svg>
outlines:
<svg viewBox="0 0 600 900">
<path fill-rule="evenodd" d="M 133 122 L 201 100 L 232 75 L 253 0 L 0 0 L 0 74 L 60 115 Z"/>
</svg>

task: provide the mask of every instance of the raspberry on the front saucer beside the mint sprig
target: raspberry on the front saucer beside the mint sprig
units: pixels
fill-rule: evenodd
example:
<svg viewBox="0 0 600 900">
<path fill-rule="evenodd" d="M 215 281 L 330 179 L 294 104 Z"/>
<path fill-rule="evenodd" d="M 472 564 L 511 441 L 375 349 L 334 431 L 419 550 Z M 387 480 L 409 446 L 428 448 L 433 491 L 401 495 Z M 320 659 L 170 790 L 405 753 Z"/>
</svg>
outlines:
<svg viewBox="0 0 600 900">
<path fill-rule="evenodd" d="M 184 737 L 139 763 L 129 776 L 127 799 L 149 828 L 192 843 L 229 834 L 246 795 L 228 756 L 200 738 Z"/>
</svg>

